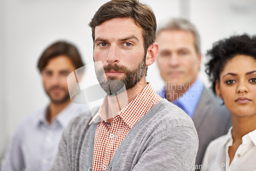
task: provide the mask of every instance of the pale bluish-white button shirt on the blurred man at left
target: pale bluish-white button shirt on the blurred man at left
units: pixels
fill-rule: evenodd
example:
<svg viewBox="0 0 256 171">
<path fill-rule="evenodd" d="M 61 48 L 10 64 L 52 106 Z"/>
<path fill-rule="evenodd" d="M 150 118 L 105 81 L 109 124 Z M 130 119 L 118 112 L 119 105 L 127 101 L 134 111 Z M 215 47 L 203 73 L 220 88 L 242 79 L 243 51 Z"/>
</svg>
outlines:
<svg viewBox="0 0 256 171">
<path fill-rule="evenodd" d="M 57 154 L 62 130 L 69 121 L 88 110 L 86 105 L 70 103 L 49 124 L 47 107 L 25 117 L 17 126 L 2 171 L 49 171 Z"/>
</svg>

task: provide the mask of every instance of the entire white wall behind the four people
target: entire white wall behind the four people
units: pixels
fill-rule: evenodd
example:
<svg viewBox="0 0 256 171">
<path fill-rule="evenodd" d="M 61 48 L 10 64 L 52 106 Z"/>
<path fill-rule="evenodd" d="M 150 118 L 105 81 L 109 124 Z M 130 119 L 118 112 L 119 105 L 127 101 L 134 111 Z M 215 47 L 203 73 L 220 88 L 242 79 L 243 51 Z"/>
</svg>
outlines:
<svg viewBox="0 0 256 171">
<path fill-rule="evenodd" d="M 88 27 L 96 10 L 105 0 L 3 0 L 0 1 L 0 156 L 4 144 L 15 131 L 20 118 L 46 105 L 36 63 L 42 50 L 57 39 L 72 41 L 84 61 L 92 62 L 93 41 Z M 153 8 L 158 23 L 168 17 L 186 15 L 195 23 L 202 38 L 202 52 L 212 42 L 233 33 L 255 34 L 254 0 L 184 0 L 186 13 L 179 0 L 144 0 Z M 234 2 L 245 2 L 239 9 Z M 247 7 L 246 3 L 249 4 Z M 187 7 L 184 7 L 187 8 Z M 203 65 L 202 65 L 203 67 Z M 92 71 L 93 72 L 93 71 Z M 207 77 L 203 81 L 208 86 Z M 1 75 L 2 74 L 2 75 Z M 163 81 L 156 63 L 148 68 L 147 81 L 159 90 Z M 6 135 L 5 135 L 6 133 Z"/>
</svg>

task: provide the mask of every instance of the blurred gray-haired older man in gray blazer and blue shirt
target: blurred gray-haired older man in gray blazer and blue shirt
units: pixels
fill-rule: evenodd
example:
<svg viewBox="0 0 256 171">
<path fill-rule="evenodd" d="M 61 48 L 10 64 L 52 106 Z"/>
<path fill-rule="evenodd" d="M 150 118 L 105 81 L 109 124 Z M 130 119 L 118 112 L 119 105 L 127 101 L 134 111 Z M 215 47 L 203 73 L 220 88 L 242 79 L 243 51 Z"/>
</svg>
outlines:
<svg viewBox="0 0 256 171">
<path fill-rule="evenodd" d="M 173 102 L 194 121 L 199 137 L 196 168 L 209 142 L 227 133 L 229 112 L 199 78 L 200 37 L 188 20 L 174 18 L 157 31 L 158 68 L 165 86 L 159 95 Z"/>
</svg>

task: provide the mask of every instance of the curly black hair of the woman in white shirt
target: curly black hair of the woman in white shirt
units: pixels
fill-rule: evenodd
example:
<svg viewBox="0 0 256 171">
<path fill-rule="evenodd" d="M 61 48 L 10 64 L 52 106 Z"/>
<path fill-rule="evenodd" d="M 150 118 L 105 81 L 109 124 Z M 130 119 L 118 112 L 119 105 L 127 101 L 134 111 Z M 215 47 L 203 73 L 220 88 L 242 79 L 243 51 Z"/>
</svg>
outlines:
<svg viewBox="0 0 256 171">
<path fill-rule="evenodd" d="M 237 55 L 251 56 L 256 60 L 256 36 L 243 34 L 222 39 L 215 42 L 206 55 L 209 57 L 209 61 L 205 65 L 205 72 L 212 83 L 212 91 L 216 94 L 216 81 L 220 80 L 220 73 L 228 60 Z"/>
</svg>

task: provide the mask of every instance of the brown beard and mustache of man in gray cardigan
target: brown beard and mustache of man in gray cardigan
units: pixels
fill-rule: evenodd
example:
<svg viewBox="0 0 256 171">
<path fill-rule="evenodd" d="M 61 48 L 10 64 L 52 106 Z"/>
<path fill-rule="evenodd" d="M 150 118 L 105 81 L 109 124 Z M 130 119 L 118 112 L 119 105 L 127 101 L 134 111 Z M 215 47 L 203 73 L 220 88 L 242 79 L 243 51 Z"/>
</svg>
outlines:
<svg viewBox="0 0 256 171">
<path fill-rule="evenodd" d="M 141 80 L 145 74 L 146 66 L 145 55 L 142 62 L 134 70 L 129 70 L 126 67 L 115 65 L 108 65 L 104 68 L 104 72 L 114 70 L 116 72 L 123 72 L 125 76 L 123 78 L 116 79 L 115 77 L 108 77 L 108 80 L 105 80 L 103 70 L 96 69 L 96 76 L 100 83 L 101 88 L 109 95 L 116 95 L 122 93 L 126 90 L 132 89 L 136 84 Z M 124 87 L 125 86 L 125 87 Z"/>
</svg>

